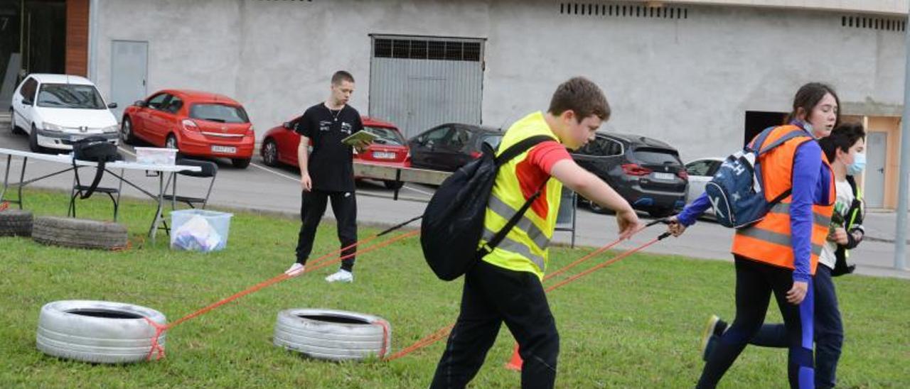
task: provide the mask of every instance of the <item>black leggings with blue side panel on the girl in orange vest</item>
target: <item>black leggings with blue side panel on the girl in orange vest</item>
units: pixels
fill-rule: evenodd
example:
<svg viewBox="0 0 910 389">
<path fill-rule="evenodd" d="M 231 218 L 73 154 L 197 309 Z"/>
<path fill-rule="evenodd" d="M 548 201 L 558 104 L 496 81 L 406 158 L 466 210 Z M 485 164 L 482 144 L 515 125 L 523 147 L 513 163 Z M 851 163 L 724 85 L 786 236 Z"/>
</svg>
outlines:
<svg viewBox="0 0 910 389">
<path fill-rule="evenodd" d="M 713 388 L 721 380 L 743 348 L 753 339 L 768 312 L 771 294 L 784 316 L 787 332 L 787 376 L 790 387 L 809 388 L 814 385 L 812 337 L 814 287 L 809 281 L 803 303 L 787 303 L 786 294 L 793 287 L 793 271 L 735 256 L 736 318 L 717 342 L 708 362 L 704 364 L 698 387 Z"/>
</svg>

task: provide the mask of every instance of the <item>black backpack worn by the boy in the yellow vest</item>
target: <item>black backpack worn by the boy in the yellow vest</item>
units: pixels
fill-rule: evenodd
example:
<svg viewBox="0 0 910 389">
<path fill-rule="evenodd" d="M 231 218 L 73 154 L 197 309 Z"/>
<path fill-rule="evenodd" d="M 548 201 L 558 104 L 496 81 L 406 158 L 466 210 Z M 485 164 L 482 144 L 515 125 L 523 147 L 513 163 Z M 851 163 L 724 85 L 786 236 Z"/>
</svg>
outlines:
<svg viewBox="0 0 910 389">
<path fill-rule="evenodd" d="M 531 203 L 541 195 L 542 185 L 490 242 L 478 249 L 487 201 L 500 166 L 534 145 L 549 140 L 553 138 L 531 136 L 512 145 L 498 157 L 492 147 L 484 143 L 480 158 L 461 166 L 440 185 L 430 204 L 427 204 L 420 223 L 423 257 L 437 277 L 451 281 L 467 273 L 483 255 L 490 254 L 501 243 Z M 546 181 L 543 185 L 547 185 Z"/>
</svg>

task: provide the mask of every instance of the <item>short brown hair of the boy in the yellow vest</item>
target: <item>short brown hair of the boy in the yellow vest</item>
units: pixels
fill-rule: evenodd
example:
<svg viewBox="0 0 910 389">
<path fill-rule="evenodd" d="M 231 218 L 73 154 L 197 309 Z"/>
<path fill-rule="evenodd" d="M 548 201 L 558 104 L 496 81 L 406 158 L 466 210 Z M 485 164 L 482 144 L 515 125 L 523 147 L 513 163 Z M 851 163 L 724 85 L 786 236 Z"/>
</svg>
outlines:
<svg viewBox="0 0 910 389">
<path fill-rule="evenodd" d="M 562 115 L 570 109 L 579 122 L 591 115 L 597 115 L 603 121 L 610 119 L 610 104 L 601 87 L 584 77 L 572 77 L 559 85 L 547 111 L 551 115 Z"/>
</svg>

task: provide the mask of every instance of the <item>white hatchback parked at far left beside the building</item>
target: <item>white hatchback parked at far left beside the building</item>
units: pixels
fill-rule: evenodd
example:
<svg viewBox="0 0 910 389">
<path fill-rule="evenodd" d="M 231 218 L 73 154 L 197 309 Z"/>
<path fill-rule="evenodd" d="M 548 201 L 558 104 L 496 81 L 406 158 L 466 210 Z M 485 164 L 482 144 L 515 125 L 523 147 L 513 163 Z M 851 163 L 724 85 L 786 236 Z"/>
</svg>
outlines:
<svg viewBox="0 0 910 389">
<path fill-rule="evenodd" d="M 28 147 L 71 150 L 86 136 L 117 144 L 116 117 L 95 84 L 78 75 L 33 74 L 15 88 L 10 105 L 12 129 L 28 135 Z"/>
</svg>

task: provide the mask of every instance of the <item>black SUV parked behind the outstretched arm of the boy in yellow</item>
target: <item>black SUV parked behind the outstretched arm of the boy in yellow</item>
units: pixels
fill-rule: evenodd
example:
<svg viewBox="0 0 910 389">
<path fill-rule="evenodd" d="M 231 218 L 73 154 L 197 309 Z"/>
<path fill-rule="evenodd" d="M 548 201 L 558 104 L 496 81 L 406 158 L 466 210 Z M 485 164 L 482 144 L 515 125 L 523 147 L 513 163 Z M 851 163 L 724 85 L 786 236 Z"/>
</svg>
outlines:
<svg viewBox="0 0 910 389">
<path fill-rule="evenodd" d="M 571 155 L 635 209 L 663 217 L 685 205 L 689 177 L 671 145 L 641 135 L 598 133 Z M 591 209 L 605 211 L 594 203 Z"/>
</svg>

